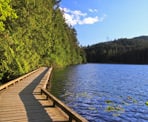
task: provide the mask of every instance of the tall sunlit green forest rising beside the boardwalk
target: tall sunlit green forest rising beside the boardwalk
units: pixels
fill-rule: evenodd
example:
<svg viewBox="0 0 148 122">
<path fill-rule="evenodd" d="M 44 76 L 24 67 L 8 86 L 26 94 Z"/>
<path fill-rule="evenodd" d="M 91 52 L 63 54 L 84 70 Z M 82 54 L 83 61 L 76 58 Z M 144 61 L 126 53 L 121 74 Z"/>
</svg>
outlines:
<svg viewBox="0 0 148 122">
<path fill-rule="evenodd" d="M 0 83 L 40 66 L 85 62 L 60 0 L 0 0 Z"/>
</svg>

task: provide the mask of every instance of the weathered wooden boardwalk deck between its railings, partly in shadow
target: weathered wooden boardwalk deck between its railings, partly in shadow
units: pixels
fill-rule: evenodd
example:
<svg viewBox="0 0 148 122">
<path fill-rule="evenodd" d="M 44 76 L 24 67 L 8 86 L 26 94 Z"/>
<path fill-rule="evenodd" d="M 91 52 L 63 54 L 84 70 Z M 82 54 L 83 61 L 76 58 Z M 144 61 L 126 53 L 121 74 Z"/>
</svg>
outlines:
<svg viewBox="0 0 148 122">
<path fill-rule="evenodd" d="M 41 94 L 41 88 L 47 82 L 44 80 L 47 71 L 47 68 L 40 68 L 29 77 L 0 91 L 0 122 L 73 121 L 58 106 L 53 106 L 53 101 L 47 99 L 46 94 Z M 82 121 L 87 120 L 82 118 Z"/>
</svg>

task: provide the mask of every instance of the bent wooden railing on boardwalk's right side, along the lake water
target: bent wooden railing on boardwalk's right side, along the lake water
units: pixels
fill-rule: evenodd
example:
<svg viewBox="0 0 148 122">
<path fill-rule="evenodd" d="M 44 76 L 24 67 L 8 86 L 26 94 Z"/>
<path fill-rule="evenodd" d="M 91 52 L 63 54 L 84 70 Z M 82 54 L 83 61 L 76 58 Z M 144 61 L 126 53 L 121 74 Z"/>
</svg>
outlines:
<svg viewBox="0 0 148 122">
<path fill-rule="evenodd" d="M 53 96 L 50 92 L 46 90 L 48 81 L 51 76 L 51 72 L 52 72 L 52 68 L 49 68 L 48 72 L 42 79 L 45 81 L 44 81 L 43 87 L 41 88 L 41 94 L 46 95 L 46 98 L 50 99 L 53 102 L 52 107 L 58 106 L 64 113 L 66 113 L 69 117 L 69 122 L 72 122 L 73 120 L 75 120 L 76 122 L 88 122 L 85 118 L 83 118 L 78 113 L 73 111 L 71 108 L 69 108 L 67 105 L 65 105 L 58 98 L 56 98 L 55 96 Z"/>
</svg>

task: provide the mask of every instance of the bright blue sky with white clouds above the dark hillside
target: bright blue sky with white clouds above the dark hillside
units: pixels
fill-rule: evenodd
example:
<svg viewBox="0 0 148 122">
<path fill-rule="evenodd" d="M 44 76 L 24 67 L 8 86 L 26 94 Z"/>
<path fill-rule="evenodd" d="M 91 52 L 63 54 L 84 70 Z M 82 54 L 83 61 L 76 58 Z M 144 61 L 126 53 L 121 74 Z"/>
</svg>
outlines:
<svg viewBox="0 0 148 122">
<path fill-rule="evenodd" d="M 148 0 L 62 0 L 82 46 L 148 35 Z"/>
</svg>

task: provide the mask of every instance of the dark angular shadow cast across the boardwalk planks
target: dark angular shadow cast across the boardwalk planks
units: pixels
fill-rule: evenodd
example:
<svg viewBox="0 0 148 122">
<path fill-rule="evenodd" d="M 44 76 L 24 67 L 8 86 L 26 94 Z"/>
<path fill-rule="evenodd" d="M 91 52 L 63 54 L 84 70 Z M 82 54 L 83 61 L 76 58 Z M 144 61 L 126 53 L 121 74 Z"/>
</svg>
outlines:
<svg viewBox="0 0 148 122">
<path fill-rule="evenodd" d="M 44 107 L 41 106 L 33 95 L 34 89 L 40 83 L 46 71 L 47 70 L 36 77 L 33 82 L 23 89 L 19 94 L 26 109 L 28 122 L 52 122 L 51 118 L 44 110 Z"/>
</svg>

